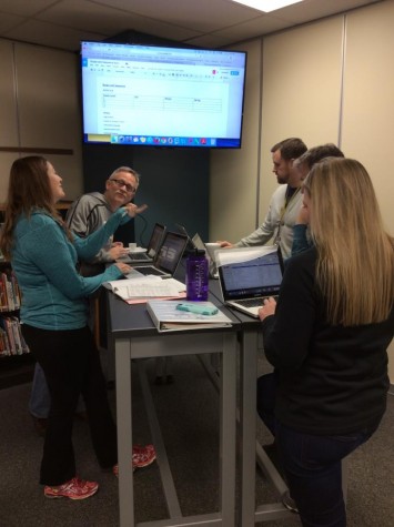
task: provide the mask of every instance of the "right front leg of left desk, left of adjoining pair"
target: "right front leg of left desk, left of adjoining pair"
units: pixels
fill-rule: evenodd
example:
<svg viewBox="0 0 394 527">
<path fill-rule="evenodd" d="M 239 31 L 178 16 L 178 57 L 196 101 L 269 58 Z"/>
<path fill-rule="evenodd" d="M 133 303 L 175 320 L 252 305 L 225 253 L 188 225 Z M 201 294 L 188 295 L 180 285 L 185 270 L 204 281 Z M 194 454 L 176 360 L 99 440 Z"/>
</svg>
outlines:
<svg viewBox="0 0 394 527">
<path fill-rule="evenodd" d="M 235 521 L 235 445 L 236 445 L 236 336 L 223 336 L 221 376 L 221 503 L 222 525 Z"/>
</svg>

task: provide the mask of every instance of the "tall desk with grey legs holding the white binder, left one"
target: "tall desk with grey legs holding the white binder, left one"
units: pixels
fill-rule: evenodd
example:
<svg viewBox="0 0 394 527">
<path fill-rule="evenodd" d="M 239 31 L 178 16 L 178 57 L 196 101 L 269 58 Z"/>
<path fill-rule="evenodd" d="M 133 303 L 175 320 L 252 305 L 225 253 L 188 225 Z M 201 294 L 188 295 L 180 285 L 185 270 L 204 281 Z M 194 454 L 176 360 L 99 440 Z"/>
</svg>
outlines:
<svg viewBox="0 0 394 527">
<path fill-rule="evenodd" d="M 219 302 L 210 298 L 215 304 Z M 170 518 L 139 523 L 142 527 L 235 527 L 235 448 L 236 448 L 236 352 L 238 331 L 241 327 L 235 316 L 232 327 L 218 330 L 182 331 L 159 334 L 152 324 L 144 304 L 128 305 L 114 294 L 108 293 L 109 327 L 115 353 L 117 422 L 119 462 L 119 507 L 121 527 L 134 527 L 132 450 L 132 377 L 131 361 L 148 357 L 222 354 L 220 377 L 220 511 L 200 516 L 182 516 L 175 486 L 166 459 L 165 447 L 154 415 L 153 401 L 147 404 L 152 439 L 158 455 L 158 465 L 163 483 Z M 137 361 L 143 371 L 143 361 Z M 143 376 L 142 376 L 143 378 Z M 142 391 L 144 386 L 142 383 Z M 144 393 L 145 395 L 145 393 Z M 147 401 L 147 398 L 145 398 Z"/>
</svg>

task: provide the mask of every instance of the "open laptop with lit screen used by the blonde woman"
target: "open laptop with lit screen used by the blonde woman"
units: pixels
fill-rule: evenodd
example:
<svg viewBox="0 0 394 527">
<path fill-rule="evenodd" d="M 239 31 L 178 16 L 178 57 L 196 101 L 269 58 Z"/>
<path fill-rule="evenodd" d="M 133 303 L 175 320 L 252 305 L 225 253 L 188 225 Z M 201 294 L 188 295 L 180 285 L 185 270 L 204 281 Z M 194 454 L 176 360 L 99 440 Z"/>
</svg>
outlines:
<svg viewBox="0 0 394 527">
<path fill-rule="evenodd" d="M 283 260 L 276 245 L 216 251 L 216 264 L 229 307 L 259 318 L 263 300 L 279 294 Z"/>
</svg>

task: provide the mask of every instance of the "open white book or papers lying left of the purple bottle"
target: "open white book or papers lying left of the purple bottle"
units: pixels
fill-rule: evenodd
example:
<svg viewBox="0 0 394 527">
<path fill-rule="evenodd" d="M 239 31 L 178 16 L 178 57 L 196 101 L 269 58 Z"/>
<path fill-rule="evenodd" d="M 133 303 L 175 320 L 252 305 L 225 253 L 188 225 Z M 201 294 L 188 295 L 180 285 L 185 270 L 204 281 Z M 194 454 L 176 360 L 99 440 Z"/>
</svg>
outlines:
<svg viewBox="0 0 394 527">
<path fill-rule="evenodd" d="M 149 298 L 185 298 L 186 286 L 175 278 L 142 276 L 105 282 L 104 287 L 128 304 L 142 304 Z"/>
</svg>

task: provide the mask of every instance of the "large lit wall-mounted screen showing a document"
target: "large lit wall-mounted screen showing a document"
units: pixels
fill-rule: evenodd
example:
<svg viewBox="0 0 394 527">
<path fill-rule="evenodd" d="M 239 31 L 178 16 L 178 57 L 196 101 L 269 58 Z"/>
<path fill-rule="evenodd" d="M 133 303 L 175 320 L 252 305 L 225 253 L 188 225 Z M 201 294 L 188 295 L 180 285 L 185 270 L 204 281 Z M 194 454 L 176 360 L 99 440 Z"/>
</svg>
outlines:
<svg viewBox="0 0 394 527">
<path fill-rule="evenodd" d="M 241 148 L 246 52 L 81 42 L 83 142 Z"/>
</svg>

